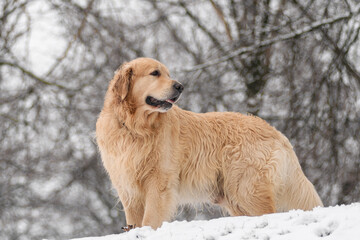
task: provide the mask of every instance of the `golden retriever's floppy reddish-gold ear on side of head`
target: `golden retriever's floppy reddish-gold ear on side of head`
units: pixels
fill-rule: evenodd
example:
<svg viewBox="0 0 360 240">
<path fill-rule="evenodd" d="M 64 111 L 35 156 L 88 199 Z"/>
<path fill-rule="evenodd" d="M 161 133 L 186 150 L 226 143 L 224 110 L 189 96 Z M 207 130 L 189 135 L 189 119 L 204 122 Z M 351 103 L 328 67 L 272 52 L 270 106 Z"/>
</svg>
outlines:
<svg viewBox="0 0 360 240">
<path fill-rule="evenodd" d="M 128 63 L 122 64 L 115 72 L 113 92 L 122 102 L 126 98 L 130 90 L 130 83 L 133 77 L 133 69 Z"/>
</svg>

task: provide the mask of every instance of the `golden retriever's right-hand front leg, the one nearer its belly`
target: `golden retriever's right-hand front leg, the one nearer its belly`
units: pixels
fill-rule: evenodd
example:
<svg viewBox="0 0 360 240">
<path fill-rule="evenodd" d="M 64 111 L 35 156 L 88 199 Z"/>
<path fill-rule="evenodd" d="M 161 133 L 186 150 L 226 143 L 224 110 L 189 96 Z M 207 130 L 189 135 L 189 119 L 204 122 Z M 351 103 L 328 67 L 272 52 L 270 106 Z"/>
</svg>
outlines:
<svg viewBox="0 0 360 240">
<path fill-rule="evenodd" d="M 146 192 L 143 226 L 157 229 L 163 221 L 170 221 L 176 211 L 173 189 L 152 182 Z M 167 185 L 167 184 L 166 184 Z"/>
</svg>

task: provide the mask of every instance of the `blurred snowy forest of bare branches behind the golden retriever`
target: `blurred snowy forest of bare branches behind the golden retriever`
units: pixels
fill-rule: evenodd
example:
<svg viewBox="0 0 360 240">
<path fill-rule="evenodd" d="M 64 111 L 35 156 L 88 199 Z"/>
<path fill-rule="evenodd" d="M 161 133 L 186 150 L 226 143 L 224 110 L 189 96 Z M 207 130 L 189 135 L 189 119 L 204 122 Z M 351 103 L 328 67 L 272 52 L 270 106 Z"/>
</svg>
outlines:
<svg viewBox="0 0 360 240">
<path fill-rule="evenodd" d="M 94 142 L 114 71 L 146 56 L 195 112 L 258 115 L 325 205 L 360 201 L 359 0 L 1 0 L 0 239 L 121 232 Z M 185 207 L 177 219 L 218 217 Z"/>
</svg>

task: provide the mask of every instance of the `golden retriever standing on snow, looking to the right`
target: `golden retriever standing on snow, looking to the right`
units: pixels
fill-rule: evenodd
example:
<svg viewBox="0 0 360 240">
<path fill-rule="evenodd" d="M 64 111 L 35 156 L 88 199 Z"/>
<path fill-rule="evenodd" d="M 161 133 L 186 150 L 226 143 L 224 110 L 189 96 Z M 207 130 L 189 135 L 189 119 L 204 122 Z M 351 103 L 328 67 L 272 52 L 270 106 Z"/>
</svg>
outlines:
<svg viewBox="0 0 360 240">
<path fill-rule="evenodd" d="M 283 134 L 251 115 L 183 110 L 183 90 L 150 58 L 110 81 L 96 140 L 127 224 L 156 229 L 188 203 L 232 216 L 323 206 Z"/>
</svg>

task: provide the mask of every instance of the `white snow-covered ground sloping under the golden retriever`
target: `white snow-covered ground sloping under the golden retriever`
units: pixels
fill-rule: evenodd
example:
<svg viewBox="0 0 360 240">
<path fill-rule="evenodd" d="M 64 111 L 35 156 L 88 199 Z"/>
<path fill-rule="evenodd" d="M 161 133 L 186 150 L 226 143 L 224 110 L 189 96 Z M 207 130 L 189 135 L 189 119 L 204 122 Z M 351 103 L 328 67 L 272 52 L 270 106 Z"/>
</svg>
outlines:
<svg viewBox="0 0 360 240">
<path fill-rule="evenodd" d="M 132 239 L 360 239 L 360 203 L 260 217 L 225 217 L 209 221 L 164 223 L 158 230 L 142 227 L 127 233 L 81 240 Z M 78 239 L 79 240 L 79 239 Z"/>
</svg>

